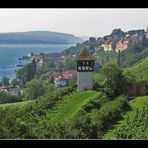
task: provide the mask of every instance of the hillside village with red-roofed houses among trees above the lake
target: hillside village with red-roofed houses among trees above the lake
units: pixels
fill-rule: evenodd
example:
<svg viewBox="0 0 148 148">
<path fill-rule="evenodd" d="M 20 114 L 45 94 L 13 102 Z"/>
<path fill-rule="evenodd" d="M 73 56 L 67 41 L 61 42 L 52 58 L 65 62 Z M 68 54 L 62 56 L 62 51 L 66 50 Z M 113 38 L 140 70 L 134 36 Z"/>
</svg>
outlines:
<svg viewBox="0 0 148 148">
<path fill-rule="evenodd" d="M 84 47 L 88 47 L 90 53 L 96 57 L 94 67 L 95 70 L 97 70 L 101 65 L 108 62 L 108 53 L 115 53 L 117 57 L 119 51 L 123 52 L 128 51 L 129 49 L 134 49 L 136 51 L 136 48 L 141 50 L 147 45 L 148 27 L 146 30 L 131 30 L 128 32 L 123 32 L 121 29 L 114 29 L 110 35 L 98 37 L 97 39 L 90 37 L 88 41 L 85 41 L 82 44 L 77 44 L 76 47 L 66 49 L 61 53 L 40 53 L 39 55 L 29 53 L 25 58 L 30 61 L 35 60 L 37 67 L 43 67 L 47 63 L 48 65 L 54 67 L 52 70 L 42 72 L 39 75 L 41 78 L 47 78 L 49 80 L 53 79 L 53 83 L 56 87 L 63 87 L 68 86 L 70 81 L 76 80 L 77 72 L 75 59 Z M 101 59 L 97 58 L 98 55 L 100 56 L 100 51 L 106 53 L 106 55 Z M 69 67 L 64 65 L 66 62 L 69 64 Z M 71 63 L 73 64 L 71 65 Z M 18 86 L 17 88 L 7 88 L 3 85 L 0 87 L 0 92 L 7 91 L 16 95 L 20 90 Z"/>
</svg>

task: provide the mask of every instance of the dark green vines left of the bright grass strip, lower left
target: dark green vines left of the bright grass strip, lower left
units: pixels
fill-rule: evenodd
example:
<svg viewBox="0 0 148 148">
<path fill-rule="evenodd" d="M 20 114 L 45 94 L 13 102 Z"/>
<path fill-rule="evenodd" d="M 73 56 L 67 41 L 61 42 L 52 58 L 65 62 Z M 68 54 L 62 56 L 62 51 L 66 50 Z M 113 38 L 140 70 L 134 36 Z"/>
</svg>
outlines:
<svg viewBox="0 0 148 148">
<path fill-rule="evenodd" d="M 64 95 L 70 94 L 74 88 L 67 87 L 48 93 L 34 101 L 21 104 L 0 106 L 1 138 L 44 138 L 47 130 L 39 124 L 39 120 L 49 108 L 52 108 Z"/>
</svg>

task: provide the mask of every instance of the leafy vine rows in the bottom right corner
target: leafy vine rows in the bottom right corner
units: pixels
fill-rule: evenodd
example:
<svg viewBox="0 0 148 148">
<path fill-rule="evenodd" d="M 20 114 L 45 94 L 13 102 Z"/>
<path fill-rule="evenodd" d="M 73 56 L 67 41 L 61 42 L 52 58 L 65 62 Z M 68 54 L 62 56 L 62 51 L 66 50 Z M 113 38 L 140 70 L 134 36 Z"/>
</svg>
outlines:
<svg viewBox="0 0 148 148">
<path fill-rule="evenodd" d="M 118 139 L 148 139 L 148 106 L 136 110 L 132 118 L 127 118 L 122 127 L 114 131 Z"/>
</svg>

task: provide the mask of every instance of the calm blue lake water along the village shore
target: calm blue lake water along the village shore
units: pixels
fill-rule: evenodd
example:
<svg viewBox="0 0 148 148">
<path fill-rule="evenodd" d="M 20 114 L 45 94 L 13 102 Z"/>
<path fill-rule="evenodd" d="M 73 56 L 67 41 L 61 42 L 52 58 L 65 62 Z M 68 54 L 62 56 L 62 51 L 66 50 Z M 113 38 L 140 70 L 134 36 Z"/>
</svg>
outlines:
<svg viewBox="0 0 148 148">
<path fill-rule="evenodd" d="M 60 52 L 72 44 L 64 45 L 0 45 L 0 79 L 5 75 L 10 79 L 15 77 L 15 70 L 18 64 L 25 64 L 28 61 L 20 63 L 19 57 L 27 56 L 28 53 L 51 53 Z"/>
</svg>

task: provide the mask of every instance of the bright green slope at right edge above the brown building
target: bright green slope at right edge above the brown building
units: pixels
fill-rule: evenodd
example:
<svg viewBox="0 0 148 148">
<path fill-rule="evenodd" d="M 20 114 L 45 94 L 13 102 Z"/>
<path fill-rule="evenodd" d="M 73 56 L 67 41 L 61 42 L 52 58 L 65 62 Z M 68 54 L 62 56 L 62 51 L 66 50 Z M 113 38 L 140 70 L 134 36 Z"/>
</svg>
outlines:
<svg viewBox="0 0 148 148">
<path fill-rule="evenodd" d="M 137 81 L 148 81 L 148 57 L 125 69 L 127 71 L 135 74 Z"/>
</svg>

